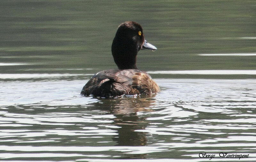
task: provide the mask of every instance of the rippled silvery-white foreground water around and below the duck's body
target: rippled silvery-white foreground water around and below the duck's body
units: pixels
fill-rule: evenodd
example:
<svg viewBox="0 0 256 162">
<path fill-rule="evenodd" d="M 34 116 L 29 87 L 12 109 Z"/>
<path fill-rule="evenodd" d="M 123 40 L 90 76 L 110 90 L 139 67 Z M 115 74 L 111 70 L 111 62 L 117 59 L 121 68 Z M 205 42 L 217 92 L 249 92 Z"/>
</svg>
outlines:
<svg viewBox="0 0 256 162">
<path fill-rule="evenodd" d="M 19 93 L 1 92 L 0 148 L 7 153 L 0 157 L 199 161 L 201 152 L 222 160 L 223 151 L 250 155 L 240 161 L 256 158 L 254 79 L 156 82 L 156 96 L 109 100 L 80 96 L 83 80 L 1 81 L 10 95 Z M 31 94 L 38 86 L 47 88 Z"/>
</svg>

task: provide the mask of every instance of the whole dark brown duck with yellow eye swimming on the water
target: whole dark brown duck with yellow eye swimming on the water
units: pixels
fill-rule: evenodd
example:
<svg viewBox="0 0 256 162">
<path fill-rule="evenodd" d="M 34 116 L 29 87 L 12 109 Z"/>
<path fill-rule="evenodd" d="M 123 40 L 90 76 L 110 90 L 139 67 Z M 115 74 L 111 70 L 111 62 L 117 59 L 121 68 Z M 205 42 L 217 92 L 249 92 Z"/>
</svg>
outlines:
<svg viewBox="0 0 256 162">
<path fill-rule="evenodd" d="M 121 96 L 153 95 L 159 86 L 145 71 L 136 66 L 139 50 L 157 48 L 148 43 L 140 24 L 126 21 L 118 26 L 111 51 L 118 69 L 103 70 L 92 76 L 84 85 L 81 95 L 97 98 L 117 98 Z"/>
</svg>

